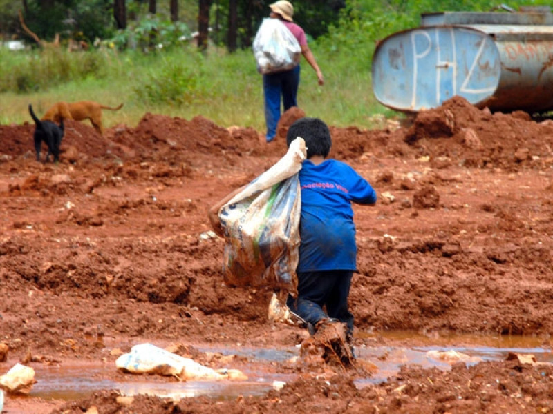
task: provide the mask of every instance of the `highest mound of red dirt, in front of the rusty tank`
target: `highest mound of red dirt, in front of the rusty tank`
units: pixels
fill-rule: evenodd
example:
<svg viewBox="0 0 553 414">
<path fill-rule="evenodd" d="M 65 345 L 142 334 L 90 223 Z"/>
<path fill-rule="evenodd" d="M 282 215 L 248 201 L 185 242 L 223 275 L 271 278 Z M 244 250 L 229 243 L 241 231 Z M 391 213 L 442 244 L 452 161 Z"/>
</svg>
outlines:
<svg viewBox="0 0 553 414">
<path fill-rule="evenodd" d="M 525 112 L 491 114 L 453 97 L 419 112 L 404 140 L 433 164 L 447 157 L 469 168 L 543 168 L 553 148 L 553 122 L 536 123 Z"/>
</svg>

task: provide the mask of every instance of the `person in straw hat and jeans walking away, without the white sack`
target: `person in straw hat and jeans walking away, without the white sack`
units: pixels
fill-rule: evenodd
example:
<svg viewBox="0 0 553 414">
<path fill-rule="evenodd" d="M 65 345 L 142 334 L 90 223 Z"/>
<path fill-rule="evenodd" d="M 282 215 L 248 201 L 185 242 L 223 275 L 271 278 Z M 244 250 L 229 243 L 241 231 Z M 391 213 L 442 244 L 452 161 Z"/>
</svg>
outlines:
<svg viewBox="0 0 553 414">
<path fill-rule="evenodd" d="M 269 17 L 279 19 L 292 32 L 301 47 L 301 54 L 306 58 L 310 66 L 317 73 L 319 85 L 324 84 L 323 72 L 317 65 L 315 56 L 311 52 L 306 33 L 303 29 L 294 23 L 294 6 L 287 0 L 279 0 L 270 4 L 271 12 Z M 299 65 L 283 72 L 268 73 L 263 75 L 263 95 L 265 96 L 265 123 L 267 124 L 267 134 L 265 139 L 270 142 L 277 135 L 277 124 L 281 117 L 281 97 L 284 104 L 284 110 L 298 106 L 297 93 L 299 87 Z"/>
</svg>

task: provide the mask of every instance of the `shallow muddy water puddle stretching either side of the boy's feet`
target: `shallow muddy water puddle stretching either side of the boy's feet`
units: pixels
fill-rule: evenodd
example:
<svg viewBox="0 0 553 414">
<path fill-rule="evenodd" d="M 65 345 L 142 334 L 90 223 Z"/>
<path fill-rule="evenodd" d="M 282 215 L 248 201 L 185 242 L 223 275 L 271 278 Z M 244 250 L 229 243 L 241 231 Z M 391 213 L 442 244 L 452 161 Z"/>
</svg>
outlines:
<svg viewBox="0 0 553 414">
<path fill-rule="evenodd" d="M 509 353 L 532 354 L 538 362 L 553 363 L 550 347 L 543 346 L 543 340 L 536 337 L 425 337 L 414 333 L 379 333 L 379 337 L 390 341 L 409 342 L 419 346 L 359 346 L 357 357 L 371 362 L 377 371 L 355 384 L 359 388 L 370 384 L 384 382 L 395 375 L 402 365 L 418 365 L 422 368 L 451 368 L 451 361 L 437 357 L 440 353 L 456 351 L 468 357 L 466 364 L 477 364 L 480 361 L 505 359 Z M 368 338 L 370 334 L 360 333 L 359 337 Z M 469 344 L 464 346 L 449 345 L 452 343 Z M 159 397 L 194 397 L 204 395 L 220 400 L 234 399 L 239 395 L 264 395 L 284 382 L 296 378 L 292 374 L 263 372 L 263 364 L 284 362 L 299 355 L 299 347 L 288 349 L 271 348 L 198 348 L 203 352 L 216 352 L 223 355 L 238 355 L 247 357 L 255 366 L 255 371 L 241 368 L 247 375 L 247 380 L 218 381 L 188 381 L 151 377 L 149 375 L 133 375 L 131 382 L 126 379 L 113 379 L 115 364 L 98 364 L 86 366 L 36 366 L 37 383 L 32 388 L 31 396 L 45 400 L 76 400 L 86 397 L 94 391 L 102 389 L 117 389 L 124 395 L 148 394 Z M 261 368 L 259 368 L 261 366 Z M 227 368 L 233 368 L 228 366 Z M 253 368 L 252 368 L 253 369 Z M 273 371 L 273 370 L 271 370 Z M 116 377 L 116 376 L 115 376 Z M 107 379 L 106 379 L 107 378 Z"/>
</svg>

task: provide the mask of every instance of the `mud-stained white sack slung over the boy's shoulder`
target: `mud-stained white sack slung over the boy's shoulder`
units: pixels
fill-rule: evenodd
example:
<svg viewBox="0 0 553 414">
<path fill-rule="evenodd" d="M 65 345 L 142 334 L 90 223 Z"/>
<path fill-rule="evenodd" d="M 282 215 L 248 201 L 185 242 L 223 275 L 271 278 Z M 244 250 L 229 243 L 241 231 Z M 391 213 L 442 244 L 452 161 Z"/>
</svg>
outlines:
<svg viewBox="0 0 553 414">
<path fill-rule="evenodd" d="M 277 164 L 219 210 L 225 229 L 225 283 L 297 293 L 301 208 L 297 173 L 304 159 L 305 141 L 294 139 Z"/>
</svg>

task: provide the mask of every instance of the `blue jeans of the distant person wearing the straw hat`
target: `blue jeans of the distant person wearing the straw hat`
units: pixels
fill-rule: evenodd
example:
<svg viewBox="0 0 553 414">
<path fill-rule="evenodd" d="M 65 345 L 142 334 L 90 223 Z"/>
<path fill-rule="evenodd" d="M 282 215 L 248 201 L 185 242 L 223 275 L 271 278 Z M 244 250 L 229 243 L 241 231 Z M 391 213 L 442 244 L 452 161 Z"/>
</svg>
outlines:
<svg viewBox="0 0 553 414">
<path fill-rule="evenodd" d="M 294 69 L 263 75 L 263 94 L 265 95 L 265 123 L 267 124 L 267 142 L 277 135 L 277 124 L 281 119 L 281 95 L 284 111 L 298 106 L 299 65 Z"/>
</svg>

